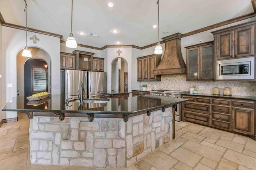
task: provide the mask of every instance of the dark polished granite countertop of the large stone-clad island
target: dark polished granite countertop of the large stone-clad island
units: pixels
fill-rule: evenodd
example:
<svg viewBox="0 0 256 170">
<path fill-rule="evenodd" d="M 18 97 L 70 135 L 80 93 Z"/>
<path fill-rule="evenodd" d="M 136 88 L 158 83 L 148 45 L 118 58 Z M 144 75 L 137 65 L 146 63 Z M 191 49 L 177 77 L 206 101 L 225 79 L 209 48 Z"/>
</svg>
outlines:
<svg viewBox="0 0 256 170">
<path fill-rule="evenodd" d="M 26 97 L 22 96 L 13 97 L 2 108 L 2 111 L 18 111 L 24 113 L 38 112 L 42 113 L 40 116 L 47 115 L 44 113 L 132 115 L 146 111 L 159 110 L 188 100 L 145 95 L 118 99 L 84 99 L 84 104 L 82 105 L 79 101 L 69 103 L 65 103 L 65 101 L 66 100 L 63 100 L 61 95 L 51 95 L 40 101 L 28 101 Z M 72 117 L 72 115 L 70 117 Z"/>
</svg>

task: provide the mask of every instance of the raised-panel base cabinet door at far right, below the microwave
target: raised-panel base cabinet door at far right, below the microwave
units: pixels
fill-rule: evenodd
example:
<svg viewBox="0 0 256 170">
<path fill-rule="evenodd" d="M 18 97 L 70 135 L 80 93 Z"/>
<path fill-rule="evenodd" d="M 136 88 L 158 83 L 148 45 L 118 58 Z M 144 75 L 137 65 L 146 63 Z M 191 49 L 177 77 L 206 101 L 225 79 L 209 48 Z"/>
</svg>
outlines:
<svg viewBox="0 0 256 170">
<path fill-rule="evenodd" d="M 253 109 L 232 108 L 232 125 L 235 132 L 254 135 Z"/>
</svg>

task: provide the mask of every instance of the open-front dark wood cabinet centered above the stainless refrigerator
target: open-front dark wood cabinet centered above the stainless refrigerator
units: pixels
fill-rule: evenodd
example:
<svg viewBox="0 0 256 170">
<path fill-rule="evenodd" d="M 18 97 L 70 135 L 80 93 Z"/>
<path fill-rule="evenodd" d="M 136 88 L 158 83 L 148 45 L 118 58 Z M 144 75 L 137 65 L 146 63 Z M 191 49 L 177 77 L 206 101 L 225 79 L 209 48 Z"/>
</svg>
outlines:
<svg viewBox="0 0 256 170">
<path fill-rule="evenodd" d="M 76 70 L 93 70 L 94 53 L 79 50 L 74 50 L 73 53 L 76 55 Z"/>
</svg>

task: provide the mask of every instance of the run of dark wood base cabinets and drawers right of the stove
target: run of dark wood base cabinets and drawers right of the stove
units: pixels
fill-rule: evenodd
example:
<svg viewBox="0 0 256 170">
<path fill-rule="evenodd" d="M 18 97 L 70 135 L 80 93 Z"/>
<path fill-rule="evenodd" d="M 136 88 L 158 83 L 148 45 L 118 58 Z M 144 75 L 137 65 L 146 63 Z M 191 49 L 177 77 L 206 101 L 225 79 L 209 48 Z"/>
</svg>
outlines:
<svg viewBox="0 0 256 170">
<path fill-rule="evenodd" d="M 182 95 L 182 98 L 189 99 L 182 103 L 182 121 L 255 138 L 255 101 L 193 95 Z"/>
</svg>

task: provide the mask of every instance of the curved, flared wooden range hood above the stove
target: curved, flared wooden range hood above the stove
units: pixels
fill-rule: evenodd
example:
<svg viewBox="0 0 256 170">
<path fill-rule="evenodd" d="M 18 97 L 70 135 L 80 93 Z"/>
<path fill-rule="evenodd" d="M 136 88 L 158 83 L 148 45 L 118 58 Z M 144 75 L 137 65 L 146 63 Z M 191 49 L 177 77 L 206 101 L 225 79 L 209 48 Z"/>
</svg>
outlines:
<svg viewBox="0 0 256 170">
<path fill-rule="evenodd" d="M 156 69 L 153 70 L 154 75 L 187 73 L 186 64 L 183 60 L 180 49 L 181 37 L 182 34 L 176 33 L 163 38 L 165 42 L 164 56 Z"/>
</svg>

